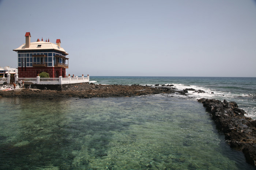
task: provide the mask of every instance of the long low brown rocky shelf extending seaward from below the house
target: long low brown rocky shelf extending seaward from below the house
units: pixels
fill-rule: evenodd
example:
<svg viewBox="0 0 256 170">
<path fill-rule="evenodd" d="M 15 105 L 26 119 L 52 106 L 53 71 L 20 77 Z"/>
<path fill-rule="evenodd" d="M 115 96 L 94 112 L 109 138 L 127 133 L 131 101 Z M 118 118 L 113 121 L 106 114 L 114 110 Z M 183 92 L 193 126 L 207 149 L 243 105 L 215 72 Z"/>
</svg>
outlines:
<svg viewBox="0 0 256 170">
<path fill-rule="evenodd" d="M 148 87 L 140 85 L 102 85 L 102 84 L 68 84 L 64 85 L 61 90 L 39 90 L 39 89 L 19 89 L 0 91 L 0 97 L 19 97 L 19 98 L 93 98 L 93 97 L 131 97 L 151 94 L 172 94 L 180 93 L 170 87 Z"/>
</svg>

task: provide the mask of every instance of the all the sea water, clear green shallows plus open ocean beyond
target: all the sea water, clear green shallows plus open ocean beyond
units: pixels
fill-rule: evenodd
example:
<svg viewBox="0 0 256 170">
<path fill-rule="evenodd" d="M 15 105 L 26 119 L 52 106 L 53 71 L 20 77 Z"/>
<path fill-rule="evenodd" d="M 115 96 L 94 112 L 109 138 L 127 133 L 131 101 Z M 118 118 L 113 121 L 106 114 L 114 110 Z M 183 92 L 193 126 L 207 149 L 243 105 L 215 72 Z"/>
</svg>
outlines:
<svg viewBox="0 0 256 170">
<path fill-rule="evenodd" d="M 90 76 L 90 81 L 173 84 L 207 93 L 0 98 L 0 169 L 255 169 L 230 148 L 196 99 L 235 101 L 255 119 L 256 78 Z"/>
</svg>

